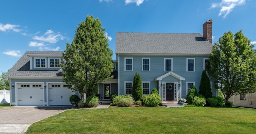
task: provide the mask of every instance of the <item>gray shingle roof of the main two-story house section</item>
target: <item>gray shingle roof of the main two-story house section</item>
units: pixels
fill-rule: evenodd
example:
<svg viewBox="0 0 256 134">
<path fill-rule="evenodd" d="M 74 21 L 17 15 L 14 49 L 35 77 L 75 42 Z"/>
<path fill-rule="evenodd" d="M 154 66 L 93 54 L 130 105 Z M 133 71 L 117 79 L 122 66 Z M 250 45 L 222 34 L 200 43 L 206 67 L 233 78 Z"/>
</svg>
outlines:
<svg viewBox="0 0 256 134">
<path fill-rule="evenodd" d="M 116 32 L 116 53 L 209 54 L 212 44 L 200 33 Z"/>
</svg>

